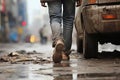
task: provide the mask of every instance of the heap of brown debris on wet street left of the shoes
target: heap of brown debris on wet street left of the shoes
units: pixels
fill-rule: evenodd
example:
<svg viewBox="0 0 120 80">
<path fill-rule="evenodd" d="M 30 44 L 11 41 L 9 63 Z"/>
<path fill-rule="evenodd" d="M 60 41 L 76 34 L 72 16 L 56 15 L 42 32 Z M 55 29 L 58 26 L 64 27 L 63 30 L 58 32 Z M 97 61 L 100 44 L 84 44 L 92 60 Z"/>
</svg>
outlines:
<svg viewBox="0 0 120 80">
<path fill-rule="evenodd" d="M 9 62 L 11 64 L 15 64 L 15 63 L 17 64 L 18 62 L 21 63 L 32 62 L 34 64 L 39 64 L 39 63 L 50 63 L 52 61 L 40 57 L 40 53 L 36 52 L 35 50 L 32 52 L 26 52 L 24 50 L 21 50 L 0 56 L 0 62 Z"/>
</svg>

